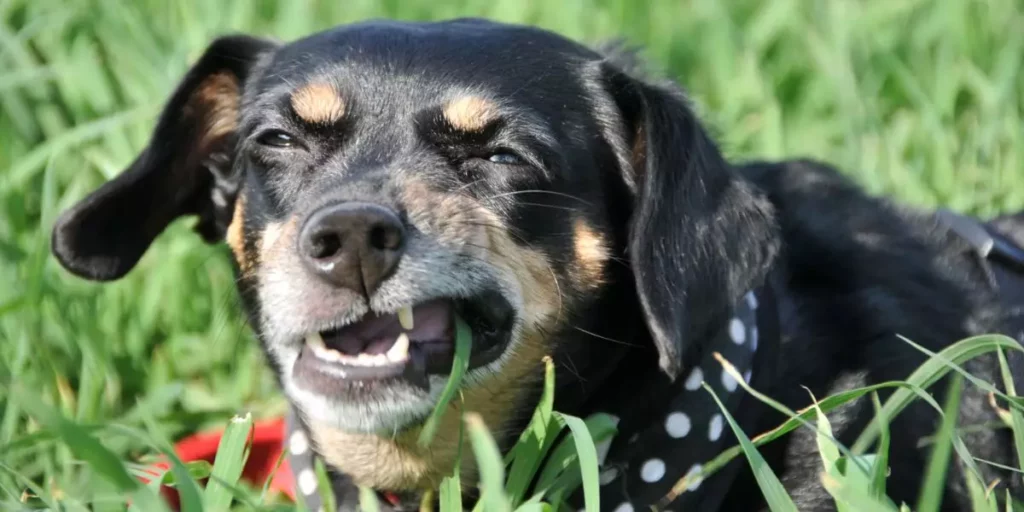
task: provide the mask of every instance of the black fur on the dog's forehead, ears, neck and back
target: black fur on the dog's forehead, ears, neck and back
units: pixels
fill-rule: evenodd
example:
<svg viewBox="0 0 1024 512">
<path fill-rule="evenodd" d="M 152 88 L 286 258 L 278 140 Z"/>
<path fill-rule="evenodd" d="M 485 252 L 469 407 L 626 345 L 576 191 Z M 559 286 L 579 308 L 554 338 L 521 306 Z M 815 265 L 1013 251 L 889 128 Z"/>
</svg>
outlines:
<svg viewBox="0 0 1024 512">
<path fill-rule="evenodd" d="M 53 251 L 79 275 L 118 279 L 178 216 L 200 215 L 200 230 L 213 240 L 223 234 L 237 193 L 247 198 L 252 229 L 327 195 L 373 190 L 375 201 L 391 201 L 400 162 L 451 188 L 492 198 L 518 240 L 543 249 L 559 275 L 571 264 L 571 219 L 552 216 L 550 208 L 582 212 L 611 243 L 615 260 L 604 283 L 578 299 L 571 326 L 551 333 L 562 411 L 599 411 L 605 393 L 628 392 L 638 373 L 659 367 L 667 378 L 681 375 L 729 305 L 769 279 L 784 337 L 778 378 L 763 391 L 794 409 L 809 402 L 805 387 L 820 397 L 905 377 L 924 357 L 897 335 L 933 350 L 980 333 L 1024 338 L 1020 276 L 999 269 L 1002 290 L 991 290 L 971 248 L 931 214 L 869 198 L 824 164 L 727 163 L 683 93 L 641 76 L 638 62 L 618 49 L 595 52 L 543 31 L 478 20 L 364 24 L 280 49 L 221 39 L 172 96 L 150 147 L 58 220 Z M 229 73 L 244 91 L 233 120 L 240 128 L 199 155 L 199 128 L 183 109 L 218 72 Z M 278 114 L 281 91 L 314 75 L 362 94 L 336 131 L 303 131 Z M 429 105 L 453 90 L 477 89 L 506 101 L 502 108 L 513 115 L 499 136 L 535 165 L 481 168 L 470 162 L 479 141 L 453 141 L 430 128 L 436 112 Z M 401 117 L 418 109 L 415 122 Z M 254 146 L 265 119 L 308 135 L 305 160 L 274 160 Z M 219 179 L 203 170 L 211 159 L 221 162 L 214 166 Z M 548 194 L 507 194 L 525 189 Z M 220 200 L 211 199 L 215 194 Z M 1018 242 L 1022 217 L 999 224 Z M 242 285 L 258 324 L 253 283 Z M 992 357 L 968 368 L 999 381 Z M 935 389 L 941 397 L 941 385 Z M 638 396 L 637 408 L 657 400 Z M 851 442 L 871 417 L 870 402 L 861 400 L 835 415 L 833 425 Z M 758 432 L 782 420 L 767 408 L 760 419 Z M 961 422 L 994 419 L 987 396 L 968 387 Z M 915 502 L 929 454 L 918 442 L 936 426 L 934 412 L 920 403 L 895 419 L 888 489 L 897 501 Z M 1009 431 L 965 438 L 977 457 L 1014 464 Z M 813 434 L 798 432 L 763 452 L 800 510 L 833 510 L 818 483 Z M 1020 492 L 1019 477 L 981 467 L 989 480 L 1001 478 L 1000 493 L 1006 485 Z M 954 464 L 944 510 L 967 507 L 958 471 Z M 749 473 L 727 500 L 722 510 L 764 508 Z"/>
</svg>

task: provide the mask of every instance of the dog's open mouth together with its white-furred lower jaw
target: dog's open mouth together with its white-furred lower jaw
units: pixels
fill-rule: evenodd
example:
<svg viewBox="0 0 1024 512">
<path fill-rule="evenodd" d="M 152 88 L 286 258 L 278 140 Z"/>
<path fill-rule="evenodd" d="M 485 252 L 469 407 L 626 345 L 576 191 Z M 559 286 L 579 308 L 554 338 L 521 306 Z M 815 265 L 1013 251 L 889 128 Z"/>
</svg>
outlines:
<svg viewBox="0 0 1024 512">
<path fill-rule="evenodd" d="M 451 375 L 460 324 L 471 334 L 466 381 L 497 371 L 512 345 L 515 314 L 494 292 L 308 333 L 282 368 L 285 391 L 307 419 L 332 428 L 393 434 L 416 426 Z"/>
</svg>

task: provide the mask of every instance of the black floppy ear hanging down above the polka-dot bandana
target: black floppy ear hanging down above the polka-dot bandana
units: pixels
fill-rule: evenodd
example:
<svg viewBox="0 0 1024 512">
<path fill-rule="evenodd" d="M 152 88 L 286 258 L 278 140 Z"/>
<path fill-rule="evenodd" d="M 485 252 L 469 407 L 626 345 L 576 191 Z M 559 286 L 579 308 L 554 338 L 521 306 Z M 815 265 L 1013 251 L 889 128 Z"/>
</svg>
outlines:
<svg viewBox="0 0 1024 512">
<path fill-rule="evenodd" d="M 778 252 L 777 225 L 678 87 L 610 65 L 603 74 L 626 125 L 628 257 L 659 365 L 675 378 L 692 343 L 721 329 L 763 282 Z"/>
</svg>

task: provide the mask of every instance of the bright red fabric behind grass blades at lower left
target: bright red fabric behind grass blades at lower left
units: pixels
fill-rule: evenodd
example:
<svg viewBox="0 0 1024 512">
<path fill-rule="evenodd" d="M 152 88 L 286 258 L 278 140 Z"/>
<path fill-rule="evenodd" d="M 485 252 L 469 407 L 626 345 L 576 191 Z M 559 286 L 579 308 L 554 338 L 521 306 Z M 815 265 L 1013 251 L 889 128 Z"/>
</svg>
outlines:
<svg viewBox="0 0 1024 512">
<path fill-rule="evenodd" d="M 174 445 L 174 453 L 183 462 L 207 461 L 213 464 L 222 435 L 222 430 L 198 433 L 178 441 Z M 242 478 L 250 484 L 260 487 L 266 483 L 268 478 L 271 478 L 269 492 L 271 494 L 282 493 L 294 501 L 295 478 L 292 475 L 288 459 L 286 458 L 278 471 L 274 471 L 274 465 L 285 451 L 287 435 L 284 418 L 257 422 L 253 425 L 249 439 L 251 450 L 246 467 L 242 472 Z M 151 465 L 146 472 L 152 474 L 153 478 L 158 478 L 168 469 L 170 469 L 169 463 L 158 462 Z M 152 480 L 152 478 L 146 477 L 139 477 L 139 479 L 143 482 Z M 164 485 L 161 487 L 161 494 L 168 504 L 177 510 L 179 502 L 174 488 Z"/>
</svg>

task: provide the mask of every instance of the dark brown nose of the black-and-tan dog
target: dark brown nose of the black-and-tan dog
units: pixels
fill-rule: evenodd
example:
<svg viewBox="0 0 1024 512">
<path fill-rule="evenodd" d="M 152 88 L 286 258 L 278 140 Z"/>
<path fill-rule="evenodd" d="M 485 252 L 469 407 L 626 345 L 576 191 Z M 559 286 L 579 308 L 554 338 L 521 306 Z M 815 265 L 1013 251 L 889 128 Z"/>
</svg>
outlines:
<svg viewBox="0 0 1024 512">
<path fill-rule="evenodd" d="M 324 281 L 369 296 L 398 266 L 404 239 L 394 211 L 341 203 L 309 216 L 299 233 L 299 253 Z"/>
</svg>

